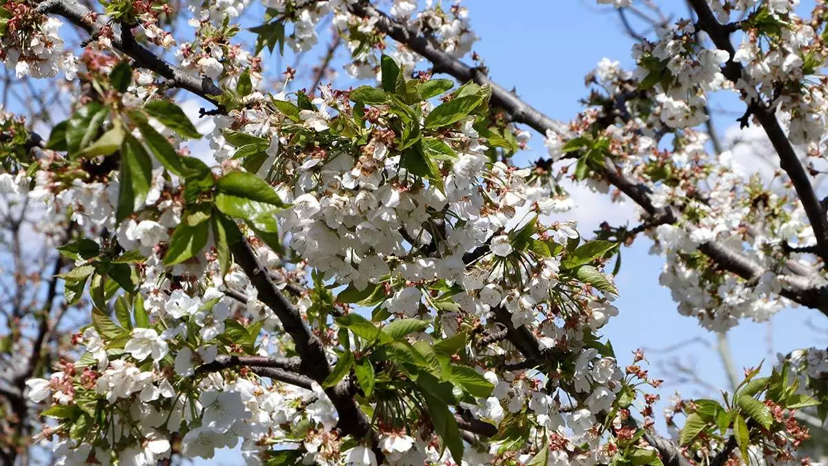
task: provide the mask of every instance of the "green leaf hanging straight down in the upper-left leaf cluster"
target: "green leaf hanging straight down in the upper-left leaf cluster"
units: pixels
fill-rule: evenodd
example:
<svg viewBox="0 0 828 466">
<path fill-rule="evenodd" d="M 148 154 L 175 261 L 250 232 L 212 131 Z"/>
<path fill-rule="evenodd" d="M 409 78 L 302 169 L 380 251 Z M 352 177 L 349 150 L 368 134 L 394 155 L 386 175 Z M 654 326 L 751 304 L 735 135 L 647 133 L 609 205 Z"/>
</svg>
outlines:
<svg viewBox="0 0 828 466">
<path fill-rule="evenodd" d="M 119 185 L 118 223 L 144 206 L 152 186 L 152 160 L 130 134 L 125 134 L 123 139 Z"/>
</svg>

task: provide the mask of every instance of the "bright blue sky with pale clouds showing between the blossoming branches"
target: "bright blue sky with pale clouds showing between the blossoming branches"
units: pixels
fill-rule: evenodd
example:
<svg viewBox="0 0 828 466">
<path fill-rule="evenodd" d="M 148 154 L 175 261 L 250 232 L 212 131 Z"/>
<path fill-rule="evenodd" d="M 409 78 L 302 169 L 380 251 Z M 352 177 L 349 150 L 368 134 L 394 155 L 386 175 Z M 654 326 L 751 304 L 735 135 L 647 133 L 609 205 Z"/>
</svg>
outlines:
<svg viewBox="0 0 828 466">
<path fill-rule="evenodd" d="M 659 3 L 676 7 L 678 11 L 674 13 L 686 16 L 684 2 L 665 0 Z M 632 42 L 623 35 L 614 9 L 599 7 L 595 0 L 467 0 L 464 4 L 469 7 L 472 26 L 481 37 L 474 51 L 484 57 L 493 80 L 508 89 L 516 88 L 518 95 L 553 118 L 568 121 L 582 108 L 578 101 L 585 96 L 583 77 L 604 56 L 621 61 L 624 66 L 632 66 Z M 255 22 L 254 14 L 247 16 L 246 21 Z M 308 66 L 315 56 L 320 55 L 321 50 L 311 52 L 303 65 Z M 282 63 L 289 65 L 292 61 L 287 57 Z M 266 66 L 277 70 L 275 56 L 266 61 Z M 300 72 L 308 73 L 301 68 Z M 343 79 L 338 84 L 347 86 L 344 73 L 340 77 Z M 725 103 L 732 102 L 726 100 Z M 732 119 L 721 117 L 716 120 L 716 126 L 724 130 L 734 124 Z M 543 154 L 542 139 L 537 135 L 530 147 L 532 151 L 527 154 L 527 160 Z M 583 221 L 580 231 L 589 233 L 599 222 L 596 209 L 608 206 L 604 199 L 595 199 L 593 203 L 588 198 L 574 212 L 562 215 L 561 220 L 580 219 Z M 613 218 L 618 220 L 618 210 L 613 212 Z M 636 221 L 633 217 L 628 220 Z M 620 298 L 616 304 L 620 315 L 605 328 L 622 366 L 629 362 L 630 352 L 638 347 L 671 347 L 691 338 L 715 343 L 714 335 L 700 328 L 695 319 L 681 317 L 676 312 L 676 304 L 669 292 L 658 284 L 663 260 L 648 255 L 649 247 L 647 240 L 638 240 L 633 247 L 623 250 L 623 267 L 617 279 Z M 740 371 L 776 352 L 826 345 L 828 333 L 813 329 L 809 319 L 821 328 L 828 328 L 824 316 L 805 308 L 778 313 L 771 323 L 745 322 L 735 328 L 729 333 L 735 366 Z M 652 376 L 666 380 L 663 400 L 676 389 L 684 396 L 715 396 L 715 393 L 704 394 L 698 386 L 676 384 L 675 374 L 657 364 L 674 354 L 681 355 L 684 362 L 695 361 L 696 373 L 701 379 L 714 386 L 728 386 L 720 359 L 712 347 L 696 344 L 670 355 L 649 352 Z M 769 362 L 773 361 L 775 357 L 770 357 Z M 660 419 L 659 425 L 663 425 Z M 236 452 L 219 454 L 211 462 L 197 462 L 208 463 L 243 464 Z"/>
</svg>

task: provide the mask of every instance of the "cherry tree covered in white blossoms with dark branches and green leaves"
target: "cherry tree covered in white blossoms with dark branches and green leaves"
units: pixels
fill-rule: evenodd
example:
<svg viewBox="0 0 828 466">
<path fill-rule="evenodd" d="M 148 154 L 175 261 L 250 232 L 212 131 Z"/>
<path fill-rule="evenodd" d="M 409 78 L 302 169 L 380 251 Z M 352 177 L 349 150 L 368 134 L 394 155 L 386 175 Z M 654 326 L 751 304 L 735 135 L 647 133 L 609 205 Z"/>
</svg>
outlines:
<svg viewBox="0 0 828 466">
<path fill-rule="evenodd" d="M 3 341 L 20 367 L 0 385 L 7 464 L 46 442 L 55 464 L 224 447 L 267 465 L 810 461 L 797 413 L 828 415 L 825 349 L 672 400 L 659 433 L 662 380 L 603 329 L 635 312 L 613 304 L 614 257 L 639 236 L 711 331 L 828 315 L 821 2 L 804 18 L 797 0 L 688 0 L 636 37 L 634 69 L 599 63 L 569 123 L 489 78 L 460 3 L 92 3 L 0 9 L 13 79 L 73 83 L 48 136 L 2 115 L 17 271 L 0 284 L 21 297 L 3 312 L 35 323 Z M 289 90 L 301 67 L 278 58 L 323 25 L 312 85 Z M 339 48 L 363 85 L 325 84 Z M 769 179 L 707 124 L 725 93 L 773 147 Z M 532 132 L 546 157 L 522 166 Z M 579 232 L 572 182 L 632 202 L 638 225 Z M 31 264 L 23 219 L 46 238 Z"/>
</svg>

